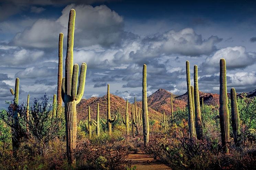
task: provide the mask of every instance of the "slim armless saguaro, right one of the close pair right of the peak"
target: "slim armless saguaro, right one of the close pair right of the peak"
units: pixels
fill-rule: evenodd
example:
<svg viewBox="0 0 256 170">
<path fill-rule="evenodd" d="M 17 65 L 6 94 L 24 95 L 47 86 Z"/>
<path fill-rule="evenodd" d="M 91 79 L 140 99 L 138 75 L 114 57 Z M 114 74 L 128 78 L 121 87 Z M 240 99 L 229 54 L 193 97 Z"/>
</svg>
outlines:
<svg viewBox="0 0 256 170">
<path fill-rule="evenodd" d="M 202 129 L 202 119 L 199 101 L 199 91 L 198 91 L 198 74 L 197 65 L 194 65 L 194 109 L 195 109 L 195 125 L 197 132 L 197 139 L 202 139 L 203 129 Z"/>
</svg>

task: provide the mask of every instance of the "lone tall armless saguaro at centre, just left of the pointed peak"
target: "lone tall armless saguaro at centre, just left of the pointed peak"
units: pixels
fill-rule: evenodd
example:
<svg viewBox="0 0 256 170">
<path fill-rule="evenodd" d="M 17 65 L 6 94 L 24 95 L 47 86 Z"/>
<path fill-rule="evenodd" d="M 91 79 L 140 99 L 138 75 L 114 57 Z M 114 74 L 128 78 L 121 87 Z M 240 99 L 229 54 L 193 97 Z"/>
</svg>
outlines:
<svg viewBox="0 0 256 170">
<path fill-rule="evenodd" d="M 143 65 L 143 81 L 142 81 L 142 124 L 143 124 L 143 137 L 144 145 L 146 146 L 149 141 L 149 122 L 147 110 L 147 65 Z"/>
</svg>

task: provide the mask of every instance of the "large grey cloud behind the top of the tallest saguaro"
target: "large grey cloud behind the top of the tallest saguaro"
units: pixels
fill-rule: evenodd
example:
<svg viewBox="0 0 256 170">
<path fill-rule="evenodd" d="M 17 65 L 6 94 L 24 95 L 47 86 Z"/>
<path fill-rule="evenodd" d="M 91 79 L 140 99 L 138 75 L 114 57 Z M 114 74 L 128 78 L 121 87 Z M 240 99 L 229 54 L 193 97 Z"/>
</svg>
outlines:
<svg viewBox="0 0 256 170">
<path fill-rule="evenodd" d="M 68 16 L 76 10 L 74 47 L 99 44 L 109 47 L 120 43 L 123 18 L 105 5 L 67 5 L 57 20 L 38 19 L 31 27 L 18 33 L 10 44 L 21 47 L 56 48 L 60 32 L 67 36 Z M 65 43 L 64 43 L 65 44 Z"/>
</svg>

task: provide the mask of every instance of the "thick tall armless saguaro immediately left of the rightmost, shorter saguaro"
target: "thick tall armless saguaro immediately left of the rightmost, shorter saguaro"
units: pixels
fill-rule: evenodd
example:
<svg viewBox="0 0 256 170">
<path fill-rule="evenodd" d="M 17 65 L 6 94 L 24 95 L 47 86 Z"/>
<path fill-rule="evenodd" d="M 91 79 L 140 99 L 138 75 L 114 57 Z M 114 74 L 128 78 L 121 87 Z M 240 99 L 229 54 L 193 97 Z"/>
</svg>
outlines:
<svg viewBox="0 0 256 170">
<path fill-rule="evenodd" d="M 229 152 L 229 108 L 227 107 L 226 61 L 220 60 L 220 127 L 224 152 Z"/>
</svg>

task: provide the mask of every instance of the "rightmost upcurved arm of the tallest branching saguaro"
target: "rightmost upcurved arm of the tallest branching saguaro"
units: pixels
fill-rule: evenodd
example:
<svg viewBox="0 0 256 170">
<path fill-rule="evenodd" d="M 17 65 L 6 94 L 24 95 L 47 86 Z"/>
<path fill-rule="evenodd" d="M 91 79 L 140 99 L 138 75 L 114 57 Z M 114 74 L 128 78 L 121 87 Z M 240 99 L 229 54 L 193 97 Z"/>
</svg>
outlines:
<svg viewBox="0 0 256 170">
<path fill-rule="evenodd" d="M 76 95 L 77 103 L 80 102 L 80 100 L 82 99 L 82 96 L 84 95 L 85 80 L 86 80 L 86 70 L 87 70 L 86 63 L 82 63 L 81 69 L 80 69 L 80 75 L 79 75 L 78 90 L 77 90 L 77 95 Z"/>
</svg>

